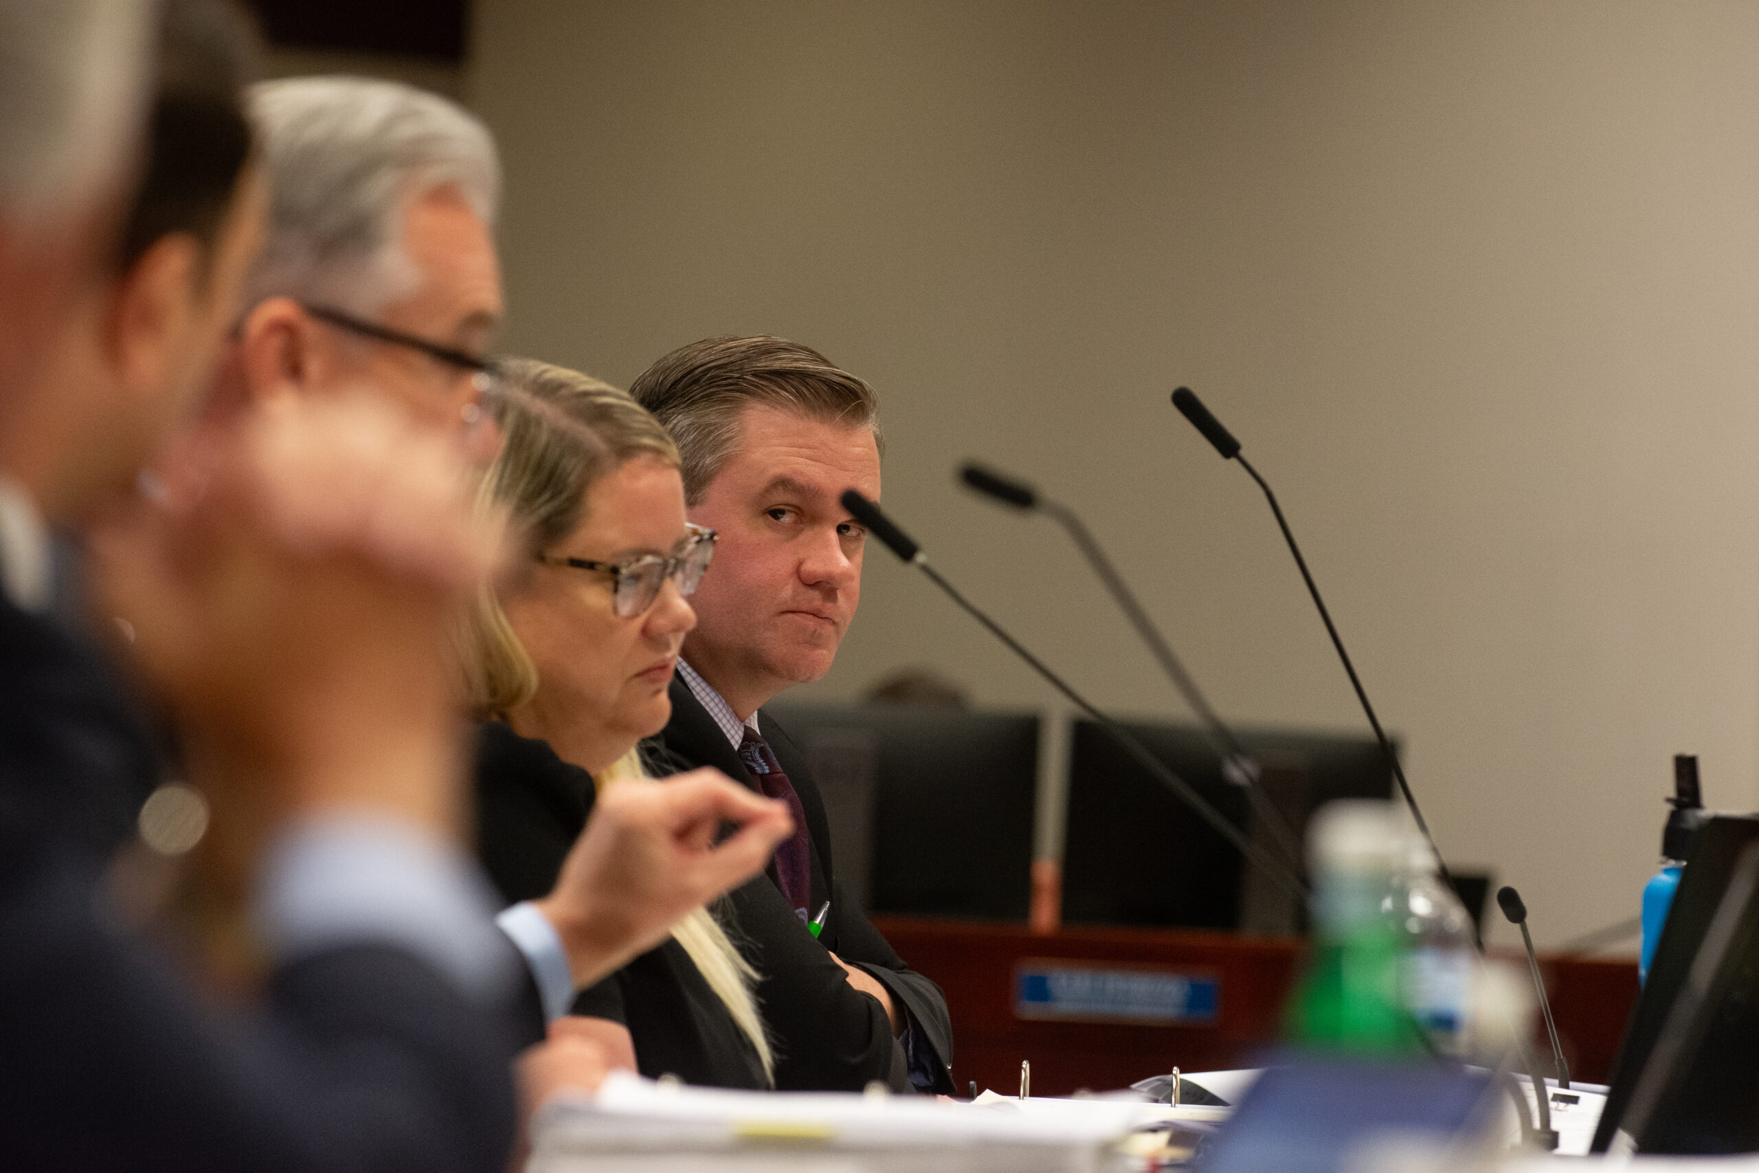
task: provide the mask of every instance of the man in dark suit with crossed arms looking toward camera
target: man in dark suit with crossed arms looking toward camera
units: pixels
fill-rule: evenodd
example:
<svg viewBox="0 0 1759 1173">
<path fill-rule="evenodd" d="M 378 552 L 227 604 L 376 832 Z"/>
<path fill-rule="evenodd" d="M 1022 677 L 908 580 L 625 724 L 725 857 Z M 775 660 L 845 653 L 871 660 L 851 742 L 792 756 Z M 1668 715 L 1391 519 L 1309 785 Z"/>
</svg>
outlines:
<svg viewBox="0 0 1759 1173">
<path fill-rule="evenodd" d="M 785 1036 L 777 1087 L 881 1078 L 952 1092 L 939 987 L 911 973 L 837 883 L 825 805 L 793 740 L 763 712 L 830 670 L 860 600 L 864 531 L 837 498 L 880 496 L 872 390 L 779 338 L 714 338 L 654 362 L 630 394 L 682 454 L 690 519 L 719 533 L 691 605 L 672 719 L 649 746 L 670 769 L 712 765 L 790 804 L 797 832 L 763 881 L 734 893 L 756 944 L 758 1001 Z M 816 941 L 814 941 L 816 937 Z"/>
</svg>

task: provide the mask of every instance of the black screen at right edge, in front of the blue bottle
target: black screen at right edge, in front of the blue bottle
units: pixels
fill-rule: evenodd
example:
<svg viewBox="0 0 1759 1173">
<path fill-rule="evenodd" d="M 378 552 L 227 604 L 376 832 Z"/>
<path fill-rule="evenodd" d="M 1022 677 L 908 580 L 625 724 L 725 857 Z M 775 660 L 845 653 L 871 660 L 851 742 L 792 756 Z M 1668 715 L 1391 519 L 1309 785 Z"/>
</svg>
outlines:
<svg viewBox="0 0 1759 1173">
<path fill-rule="evenodd" d="M 1754 814 L 1717 814 L 1704 823 L 1692 858 L 1680 876 L 1680 888 L 1675 892 L 1673 907 L 1668 911 L 1668 923 L 1660 941 L 1655 944 L 1655 960 L 1650 965 L 1648 981 L 1638 997 L 1636 1009 L 1625 1027 L 1625 1039 L 1618 1048 L 1618 1062 L 1613 1066 L 1613 1083 L 1606 1094 L 1606 1106 L 1601 1110 L 1601 1122 L 1594 1133 L 1592 1152 L 1606 1152 L 1613 1133 L 1625 1126 L 1625 1110 L 1643 1078 L 1657 1043 L 1669 1027 L 1675 1004 L 1692 981 L 1692 967 L 1699 958 L 1717 909 L 1731 890 L 1736 865 L 1745 849 L 1759 842 L 1759 816 Z M 1690 1096 L 1668 1097 L 1653 1113 L 1653 1120 L 1634 1133 L 1643 1152 L 1706 1152 L 1706 1148 L 1682 1148 L 1692 1143 L 1687 1138 L 1704 1138 L 1740 1131 L 1736 1120 L 1722 1120 L 1729 1115 L 1727 1096 L 1736 1092 L 1747 1097 L 1741 1111 L 1752 1148 L 1759 1148 L 1759 1101 L 1754 1090 L 1759 1087 L 1759 1071 L 1754 1067 L 1754 1055 L 1759 1055 L 1759 1022 L 1752 1018 L 1759 1006 L 1759 957 L 1745 957 L 1745 971 L 1736 980 L 1724 983 L 1734 999 L 1726 1009 L 1731 1018 L 1712 1032 L 1712 1039 L 1720 1039 L 1720 1046 L 1745 1048 L 1729 1062 L 1715 1055 L 1699 1057 L 1704 1073 L 1715 1073 L 1719 1083 L 1701 1089 Z M 1743 1006 L 1745 1004 L 1745 1006 Z M 1743 1018 L 1745 1013 L 1745 1018 Z M 1727 1053 L 1724 1053 L 1729 1059 Z M 1733 1069 L 1731 1067 L 1733 1062 Z M 1738 1078 L 1729 1078 L 1738 1076 Z M 1743 1152 L 1736 1148 L 1717 1148 L 1713 1152 Z"/>
</svg>

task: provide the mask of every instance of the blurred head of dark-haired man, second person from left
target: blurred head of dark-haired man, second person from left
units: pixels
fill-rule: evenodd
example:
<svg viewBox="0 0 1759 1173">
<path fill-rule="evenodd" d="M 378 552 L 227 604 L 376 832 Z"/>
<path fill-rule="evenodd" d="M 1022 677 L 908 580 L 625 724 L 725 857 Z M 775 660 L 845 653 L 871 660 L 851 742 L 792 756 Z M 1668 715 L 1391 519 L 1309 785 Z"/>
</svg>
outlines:
<svg viewBox="0 0 1759 1173">
<path fill-rule="evenodd" d="M 11 461 L 58 522 L 132 485 L 209 383 L 260 237 L 252 65 L 252 28 L 225 0 L 164 0 L 139 181 L 33 380 L 33 443 Z"/>
</svg>

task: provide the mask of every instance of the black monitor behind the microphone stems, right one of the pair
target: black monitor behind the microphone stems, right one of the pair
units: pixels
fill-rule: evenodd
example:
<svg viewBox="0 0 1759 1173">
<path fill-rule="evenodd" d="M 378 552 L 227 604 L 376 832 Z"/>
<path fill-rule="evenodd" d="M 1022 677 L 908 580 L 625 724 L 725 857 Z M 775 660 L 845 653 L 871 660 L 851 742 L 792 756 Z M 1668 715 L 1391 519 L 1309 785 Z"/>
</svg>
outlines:
<svg viewBox="0 0 1759 1173">
<path fill-rule="evenodd" d="M 1307 818 L 1332 798 L 1388 798 L 1393 772 L 1372 737 L 1238 730 L 1277 811 L 1272 827 L 1224 777 L 1221 754 L 1191 725 L 1126 725 L 1235 827 L 1270 853 L 1300 856 Z M 1240 851 L 1145 770 L 1101 725 L 1077 721 L 1062 848 L 1062 918 L 1089 925 L 1245 929 L 1293 934 L 1300 900 L 1247 869 Z"/>
</svg>

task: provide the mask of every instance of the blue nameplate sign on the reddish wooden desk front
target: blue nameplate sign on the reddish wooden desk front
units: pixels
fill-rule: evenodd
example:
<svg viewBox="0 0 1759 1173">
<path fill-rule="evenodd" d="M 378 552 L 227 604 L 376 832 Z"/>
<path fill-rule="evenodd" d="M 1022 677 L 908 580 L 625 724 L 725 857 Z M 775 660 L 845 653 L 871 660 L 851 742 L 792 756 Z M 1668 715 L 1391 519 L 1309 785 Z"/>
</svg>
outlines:
<svg viewBox="0 0 1759 1173">
<path fill-rule="evenodd" d="M 1020 962 L 1013 971 L 1018 1018 L 1073 1022 L 1212 1024 L 1221 978 L 1171 969 L 1105 969 L 1080 962 Z"/>
</svg>

